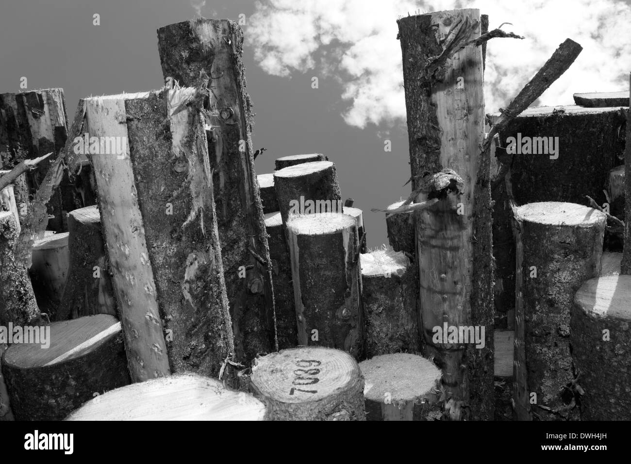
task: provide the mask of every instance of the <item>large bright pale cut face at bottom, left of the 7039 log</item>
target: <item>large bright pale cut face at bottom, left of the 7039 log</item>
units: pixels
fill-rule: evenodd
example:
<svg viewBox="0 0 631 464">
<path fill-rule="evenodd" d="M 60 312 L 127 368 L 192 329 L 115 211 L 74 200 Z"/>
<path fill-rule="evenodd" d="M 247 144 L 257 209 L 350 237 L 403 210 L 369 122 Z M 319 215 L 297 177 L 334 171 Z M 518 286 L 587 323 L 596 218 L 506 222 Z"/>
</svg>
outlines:
<svg viewBox="0 0 631 464">
<path fill-rule="evenodd" d="M 266 420 L 266 407 L 249 393 L 216 379 L 177 374 L 108 391 L 66 420 Z"/>
</svg>

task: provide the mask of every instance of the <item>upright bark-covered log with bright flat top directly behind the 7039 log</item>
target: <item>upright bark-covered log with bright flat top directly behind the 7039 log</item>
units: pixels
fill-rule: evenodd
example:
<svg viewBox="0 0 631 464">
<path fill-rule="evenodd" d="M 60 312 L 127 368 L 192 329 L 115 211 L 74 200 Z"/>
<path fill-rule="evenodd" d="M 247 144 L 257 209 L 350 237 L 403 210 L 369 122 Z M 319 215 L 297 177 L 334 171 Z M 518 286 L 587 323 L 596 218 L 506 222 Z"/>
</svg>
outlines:
<svg viewBox="0 0 631 464">
<path fill-rule="evenodd" d="M 293 168 L 285 168 L 293 169 Z M 298 344 L 363 354 L 357 221 L 340 213 L 287 223 Z"/>
</svg>

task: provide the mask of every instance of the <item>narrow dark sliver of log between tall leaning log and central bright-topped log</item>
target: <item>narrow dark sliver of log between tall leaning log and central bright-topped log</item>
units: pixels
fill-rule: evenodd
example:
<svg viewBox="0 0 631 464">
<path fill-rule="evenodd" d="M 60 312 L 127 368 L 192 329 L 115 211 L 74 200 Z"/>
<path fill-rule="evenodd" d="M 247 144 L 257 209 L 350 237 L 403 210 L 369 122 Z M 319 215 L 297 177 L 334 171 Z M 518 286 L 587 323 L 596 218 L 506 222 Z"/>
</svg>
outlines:
<svg viewBox="0 0 631 464">
<path fill-rule="evenodd" d="M 269 235 L 269 257 L 272 261 L 278 348 L 284 350 L 298 345 L 298 327 L 293 302 L 292 264 L 280 211 L 265 215 L 265 229 Z"/>
</svg>

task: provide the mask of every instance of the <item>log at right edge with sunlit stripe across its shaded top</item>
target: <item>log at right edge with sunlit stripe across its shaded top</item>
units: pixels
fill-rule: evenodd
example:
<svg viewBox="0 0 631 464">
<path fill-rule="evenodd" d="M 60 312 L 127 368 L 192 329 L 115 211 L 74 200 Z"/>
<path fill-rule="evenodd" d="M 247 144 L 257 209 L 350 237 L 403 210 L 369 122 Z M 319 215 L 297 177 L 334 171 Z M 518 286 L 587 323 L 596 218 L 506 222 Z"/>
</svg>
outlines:
<svg viewBox="0 0 631 464">
<path fill-rule="evenodd" d="M 570 341 L 581 419 L 631 420 L 631 276 L 587 280 L 576 292 Z"/>
</svg>

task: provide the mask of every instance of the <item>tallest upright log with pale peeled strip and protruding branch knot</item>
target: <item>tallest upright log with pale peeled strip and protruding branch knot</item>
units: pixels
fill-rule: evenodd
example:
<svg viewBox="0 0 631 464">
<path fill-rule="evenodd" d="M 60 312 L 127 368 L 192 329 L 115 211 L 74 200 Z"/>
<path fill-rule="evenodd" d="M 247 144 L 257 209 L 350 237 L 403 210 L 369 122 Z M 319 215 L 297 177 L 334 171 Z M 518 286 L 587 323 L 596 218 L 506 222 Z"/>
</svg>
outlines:
<svg viewBox="0 0 631 464">
<path fill-rule="evenodd" d="M 439 196 L 438 203 L 416 216 L 427 354 L 442 367 L 449 417 L 463 419 L 466 407 L 471 406 L 471 418 L 492 419 L 492 221 L 490 155 L 488 150 L 480 153 L 484 138 L 482 51 L 469 45 L 442 64 L 431 65 L 457 38 L 464 41 L 480 35 L 480 11 L 427 13 L 401 18 L 398 24 L 412 188 L 422 184 L 424 175 L 445 168 L 464 181 L 464 191 Z M 427 194 L 421 194 L 417 201 L 427 199 Z M 432 346 L 432 328 L 445 321 L 452 326 L 485 326 L 485 347 Z"/>
</svg>

